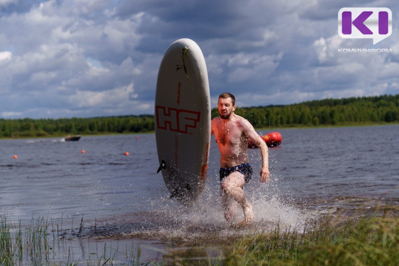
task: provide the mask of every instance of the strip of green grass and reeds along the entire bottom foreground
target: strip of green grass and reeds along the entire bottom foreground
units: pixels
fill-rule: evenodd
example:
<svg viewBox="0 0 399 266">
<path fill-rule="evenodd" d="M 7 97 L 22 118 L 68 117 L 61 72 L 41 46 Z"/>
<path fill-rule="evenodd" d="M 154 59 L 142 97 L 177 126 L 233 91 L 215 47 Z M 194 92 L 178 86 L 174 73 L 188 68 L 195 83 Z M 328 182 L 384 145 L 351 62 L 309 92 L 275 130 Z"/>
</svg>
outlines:
<svg viewBox="0 0 399 266">
<path fill-rule="evenodd" d="M 120 248 L 113 252 L 94 255 L 89 260 L 72 262 L 65 253 L 61 262 L 54 262 L 49 254 L 46 219 L 32 222 L 22 230 L 20 223 L 0 221 L 0 265 L 398 265 L 399 262 L 399 208 L 385 207 L 382 215 L 360 219 L 331 215 L 308 224 L 301 232 L 297 228 L 275 226 L 270 232 L 242 237 L 234 245 L 221 244 L 221 252 L 209 254 L 194 245 L 186 251 L 160 251 L 163 260 L 141 262 L 140 248 Z M 33 221 L 33 219 L 32 219 Z M 58 234 L 58 233 L 57 233 Z M 55 235 L 52 234 L 54 238 Z M 96 241 L 96 240 L 91 240 Z M 228 240 L 225 241 L 228 243 Z M 206 240 L 202 242 L 206 246 Z M 124 250 L 124 252 L 122 252 Z M 203 249 L 202 249 L 203 251 Z M 200 258 L 199 258 L 200 255 Z M 120 257 L 119 257 L 120 256 Z M 124 259 L 123 259 L 124 257 Z M 121 260 L 122 259 L 122 260 Z M 121 261 L 124 261 L 122 263 Z"/>
</svg>

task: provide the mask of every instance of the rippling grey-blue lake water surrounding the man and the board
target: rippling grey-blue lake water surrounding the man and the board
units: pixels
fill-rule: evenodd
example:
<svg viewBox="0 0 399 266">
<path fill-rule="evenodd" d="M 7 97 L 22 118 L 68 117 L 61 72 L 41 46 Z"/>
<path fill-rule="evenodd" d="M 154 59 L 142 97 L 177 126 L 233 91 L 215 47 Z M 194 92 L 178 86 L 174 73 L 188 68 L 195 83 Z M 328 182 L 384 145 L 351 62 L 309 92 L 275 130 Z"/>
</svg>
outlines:
<svg viewBox="0 0 399 266">
<path fill-rule="evenodd" d="M 272 131 L 283 141 L 269 148 L 267 184 L 256 174 L 259 150 L 249 150 L 254 176 L 245 193 L 260 230 L 276 223 L 298 226 L 322 213 L 398 204 L 399 125 Z M 83 218 L 85 227 L 98 229 L 88 237 L 124 236 L 160 249 L 176 236 L 231 234 L 220 206 L 213 136 L 206 188 L 192 208 L 169 199 L 156 173 L 154 134 L 0 140 L 0 150 L 0 212 L 9 221 L 27 226 L 32 218 L 45 217 L 50 227 L 73 228 Z M 85 259 L 82 247 L 104 247 L 86 238 L 71 243 L 74 260 Z M 149 250 L 142 256 L 162 257 Z"/>
</svg>

